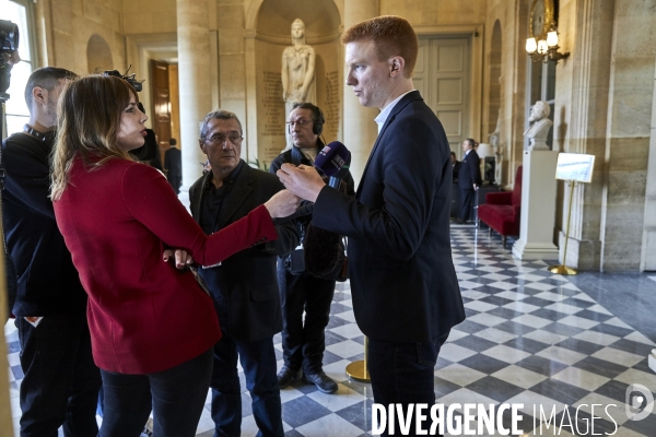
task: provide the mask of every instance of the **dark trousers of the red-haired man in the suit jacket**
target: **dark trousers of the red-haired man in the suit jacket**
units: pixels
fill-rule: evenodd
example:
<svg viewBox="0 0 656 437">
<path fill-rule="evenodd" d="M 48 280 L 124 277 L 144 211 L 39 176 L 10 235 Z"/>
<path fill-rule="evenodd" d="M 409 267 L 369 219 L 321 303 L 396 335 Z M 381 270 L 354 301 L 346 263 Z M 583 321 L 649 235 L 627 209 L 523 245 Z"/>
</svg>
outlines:
<svg viewBox="0 0 656 437">
<path fill-rule="evenodd" d="M 386 409 L 390 403 L 400 403 L 403 411 L 408 404 L 435 403 L 435 364 L 437 354 L 448 336 L 442 336 L 423 343 L 397 343 L 368 340 L 368 371 L 374 391 L 374 402 Z M 414 416 L 412 417 L 414 418 Z M 430 428 L 424 422 L 424 429 Z M 398 420 L 395 433 L 400 435 Z M 387 432 L 387 428 L 386 428 Z M 414 435 L 414 421 L 410 435 Z M 384 435 L 387 435 L 384 433 Z"/>
</svg>

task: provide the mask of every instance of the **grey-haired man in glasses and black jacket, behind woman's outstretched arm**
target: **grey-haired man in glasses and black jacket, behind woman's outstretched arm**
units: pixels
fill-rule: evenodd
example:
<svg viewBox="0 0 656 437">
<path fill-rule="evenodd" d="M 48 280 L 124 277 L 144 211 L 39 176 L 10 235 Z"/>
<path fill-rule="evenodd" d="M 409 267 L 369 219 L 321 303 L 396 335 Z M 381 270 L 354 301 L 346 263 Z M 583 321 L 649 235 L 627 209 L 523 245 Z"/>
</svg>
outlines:
<svg viewBox="0 0 656 437">
<path fill-rule="evenodd" d="M 247 215 L 284 187 L 274 175 L 251 168 L 241 158 L 242 123 L 227 110 L 208 114 L 200 126 L 200 150 L 211 172 L 189 189 L 191 215 L 206 234 Z M 281 331 L 277 256 L 298 244 L 293 222 L 277 225 L 278 239 L 243 250 L 219 265 L 203 267 L 204 280 L 221 323 L 214 345 L 212 420 L 215 435 L 238 436 L 242 390 L 237 357 L 253 400 L 253 415 L 263 436 L 283 436 L 280 389 L 276 377 L 273 335 Z"/>
</svg>

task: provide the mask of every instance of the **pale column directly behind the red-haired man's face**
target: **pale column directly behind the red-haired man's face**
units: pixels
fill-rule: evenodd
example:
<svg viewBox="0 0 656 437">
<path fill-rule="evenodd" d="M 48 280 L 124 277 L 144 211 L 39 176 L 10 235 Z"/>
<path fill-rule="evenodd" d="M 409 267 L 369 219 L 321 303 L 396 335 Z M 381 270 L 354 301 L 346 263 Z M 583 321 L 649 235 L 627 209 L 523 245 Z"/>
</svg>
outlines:
<svg viewBox="0 0 656 437">
<path fill-rule="evenodd" d="M 362 21 L 379 15 L 378 0 L 344 2 L 344 31 Z M 347 72 L 344 72 L 344 78 Z M 374 118 L 379 114 L 376 108 L 360 105 L 351 86 L 344 84 L 344 144 L 351 151 L 351 174 L 355 184 L 360 182 L 362 170 L 374 146 L 378 128 Z"/>
</svg>

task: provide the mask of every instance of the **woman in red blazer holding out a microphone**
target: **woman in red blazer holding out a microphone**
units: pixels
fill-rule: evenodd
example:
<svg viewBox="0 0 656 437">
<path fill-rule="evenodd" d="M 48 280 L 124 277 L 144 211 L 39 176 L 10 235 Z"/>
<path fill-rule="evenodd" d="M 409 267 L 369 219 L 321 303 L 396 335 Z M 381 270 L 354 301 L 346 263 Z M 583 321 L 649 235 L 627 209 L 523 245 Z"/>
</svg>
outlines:
<svg viewBox="0 0 656 437">
<path fill-rule="evenodd" d="M 99 435 L 138 436 L 153 409 L 156 436 L 194 436 L 221 338 L 212 299 L 190 271 L 163 261 L 180 248 L 203 265 L 278 238 L 289 192 L 206 236 L 166 178 L 128 152 L 143 145 L 148 117 L 115 76 L 91 75 L 62 93 L 52 158 L 58 226 L 89 294 L 93 355 L 103 375 Z"/>
</svg>

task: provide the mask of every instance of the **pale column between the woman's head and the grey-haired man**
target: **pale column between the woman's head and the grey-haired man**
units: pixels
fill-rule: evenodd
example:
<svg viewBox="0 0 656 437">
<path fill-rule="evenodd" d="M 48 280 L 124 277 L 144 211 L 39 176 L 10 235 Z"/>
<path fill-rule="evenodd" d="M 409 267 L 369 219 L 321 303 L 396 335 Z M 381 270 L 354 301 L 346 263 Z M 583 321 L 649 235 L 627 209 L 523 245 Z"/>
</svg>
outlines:
<svg viewBox="0 0 656 437">
<path fill-rule="evenodd" d="M 206 161 L 198 146 L 198 127 L 212 106 L 209 29 L 208 0 L 177 0 L 184 191 L 200 177 L 200 163 Z"/>
</svg>

